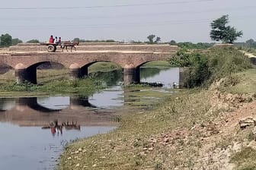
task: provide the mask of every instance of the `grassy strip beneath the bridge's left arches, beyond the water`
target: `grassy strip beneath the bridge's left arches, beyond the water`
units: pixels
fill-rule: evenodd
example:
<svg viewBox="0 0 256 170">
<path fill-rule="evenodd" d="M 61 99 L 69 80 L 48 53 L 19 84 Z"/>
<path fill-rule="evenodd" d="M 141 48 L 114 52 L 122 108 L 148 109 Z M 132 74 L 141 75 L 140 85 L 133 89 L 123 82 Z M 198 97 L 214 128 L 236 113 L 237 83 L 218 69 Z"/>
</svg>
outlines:
<svg viewBox="0 0 256 170">
<path fill-rule="evenodd" d="M 101 71 L 120 69 L 117 65 L 99 62 L 89 68 L 89 74 Z M 97 78 L 71 80 L 69 70 L 62 69 L 37 69 L 37 84 L 17 84 L 14 80 L 14 70 L 0 75 L 0 96 L 38 96 L 48 94 L 83 93 L 91 94 L 95 90 L 104 88 L 104 83 Z"/>
</svg>

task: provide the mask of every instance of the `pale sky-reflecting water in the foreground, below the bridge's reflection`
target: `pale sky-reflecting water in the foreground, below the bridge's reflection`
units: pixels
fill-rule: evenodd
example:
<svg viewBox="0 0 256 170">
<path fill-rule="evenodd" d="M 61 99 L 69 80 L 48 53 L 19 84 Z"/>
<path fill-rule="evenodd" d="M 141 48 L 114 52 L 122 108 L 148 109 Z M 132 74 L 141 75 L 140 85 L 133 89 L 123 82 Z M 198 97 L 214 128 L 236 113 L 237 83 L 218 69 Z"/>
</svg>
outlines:
<svg viewBox="0 0 256 170">
<path fill-rule="evenodd" d="M 41 128 L 18 127 L 8 123 L 0 125 L 1 169 L 27 170 L 56 169 L 57 158 L 67 142 L 114 129 L 104 126 L 81 127 L 81 131 L 63 129 L 63 135 L 53 137 Z"/>
</svg>

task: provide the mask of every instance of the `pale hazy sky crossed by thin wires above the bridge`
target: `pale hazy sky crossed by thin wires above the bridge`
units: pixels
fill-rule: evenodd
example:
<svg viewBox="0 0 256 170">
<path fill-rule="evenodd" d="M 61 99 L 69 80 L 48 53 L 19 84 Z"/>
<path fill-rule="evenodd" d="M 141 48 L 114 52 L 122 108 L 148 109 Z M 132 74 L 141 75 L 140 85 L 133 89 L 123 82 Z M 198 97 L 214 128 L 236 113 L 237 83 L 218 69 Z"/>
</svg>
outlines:
<svg viewBox="0 0 256 170">
<path fill-rule="evenodd" d="M 26 42 L 115 39 L 163 42 L 213 42 L 210 23 L 229 14 L 229 25 L 242 30 L 238 41 L 256 40 L 255 0 L 1 0 L 0 34 Z"/>
</svg>

